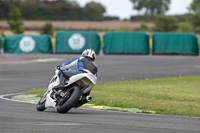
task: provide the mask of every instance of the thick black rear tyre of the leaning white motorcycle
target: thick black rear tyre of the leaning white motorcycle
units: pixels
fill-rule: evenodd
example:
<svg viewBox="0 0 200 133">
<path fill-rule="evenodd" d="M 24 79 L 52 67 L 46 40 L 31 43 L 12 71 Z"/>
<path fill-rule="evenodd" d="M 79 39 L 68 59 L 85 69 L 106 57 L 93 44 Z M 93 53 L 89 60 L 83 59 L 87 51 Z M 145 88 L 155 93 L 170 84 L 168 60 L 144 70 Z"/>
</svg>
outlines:
<svg viewBox="0 0 200 133">
<path fill-rule="evenodd" d="M 81 96 L 81 89 L 77 86 L 73 87 L 73 92 L 69 99 L 62 105 L 58 105 L 58 113 L 67 113 L 79 100 Z"/>
</svg>

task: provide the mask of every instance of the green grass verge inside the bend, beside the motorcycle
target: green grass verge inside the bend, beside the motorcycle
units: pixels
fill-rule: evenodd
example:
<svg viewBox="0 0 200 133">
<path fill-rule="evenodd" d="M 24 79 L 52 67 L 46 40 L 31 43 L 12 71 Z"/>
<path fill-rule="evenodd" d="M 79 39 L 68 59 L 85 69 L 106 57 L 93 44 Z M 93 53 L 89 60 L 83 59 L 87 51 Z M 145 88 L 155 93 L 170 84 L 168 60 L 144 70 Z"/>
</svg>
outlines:
<svg viewBox="0 0 200 133">
<path fill-rule="evenodd" d="M 157 114 L 200 116 L 200 76 L 112 82 L 96 85 L 91 104 L 139 108 Z M 42 96 L 46 89 L 26 94 Z"/>
</svg>

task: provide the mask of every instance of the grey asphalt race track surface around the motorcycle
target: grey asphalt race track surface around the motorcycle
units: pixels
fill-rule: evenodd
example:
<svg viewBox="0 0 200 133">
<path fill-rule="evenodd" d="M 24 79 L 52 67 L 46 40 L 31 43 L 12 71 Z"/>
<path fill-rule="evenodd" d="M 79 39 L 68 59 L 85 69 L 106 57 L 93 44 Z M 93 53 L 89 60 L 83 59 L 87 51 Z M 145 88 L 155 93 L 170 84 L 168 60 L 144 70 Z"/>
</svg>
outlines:
<svg viewBox="0 0 200 133">
<path fill-rule="evenodd" d="M 0 95 L 46 88 L 54 67 L 78 55 L 0 55 Z M 40 58 L 63 61 L 37 62 Z M 200 57 L 97 56 L 98 83 L 200 75 Z M 103 98 L 103 97 L 102 97 Z M 34 104 L 0 99 L 0 132 L 199 133 L 200 118 L 72 109 L 37 112 Z"/>
</svg>

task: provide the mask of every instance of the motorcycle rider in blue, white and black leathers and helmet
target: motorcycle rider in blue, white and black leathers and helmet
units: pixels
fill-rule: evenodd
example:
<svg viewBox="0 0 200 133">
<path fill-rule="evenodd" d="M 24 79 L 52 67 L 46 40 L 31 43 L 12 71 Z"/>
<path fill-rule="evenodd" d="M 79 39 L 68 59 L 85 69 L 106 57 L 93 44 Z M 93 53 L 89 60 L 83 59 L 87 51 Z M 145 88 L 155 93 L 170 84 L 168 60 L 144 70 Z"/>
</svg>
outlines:
<svg viewBox="0 0 200 133">
<path fill-rule="evenodd" d="M 61 70 L 58 73 L 60 77 L 60 84 L 53 89 L 63 89 L 65 87 L 65 81 L 75 74 L 91 72 L 93 75 L 97 76 L 98 69 L 97 65 L 94 63 L 95 58 L 95 51 L 93 49 L 86 49 L 83 51 L 80 57 L 57 66 L 57 69 Z M 91 91 L 92 88 L 93 86 L 87 89 Z M 79 107 L 92 99 L 92 97 L 89 96 L 90 91 L 85 94 L 85 97 L 79 101 L 76 107 Z"/>
</svg>

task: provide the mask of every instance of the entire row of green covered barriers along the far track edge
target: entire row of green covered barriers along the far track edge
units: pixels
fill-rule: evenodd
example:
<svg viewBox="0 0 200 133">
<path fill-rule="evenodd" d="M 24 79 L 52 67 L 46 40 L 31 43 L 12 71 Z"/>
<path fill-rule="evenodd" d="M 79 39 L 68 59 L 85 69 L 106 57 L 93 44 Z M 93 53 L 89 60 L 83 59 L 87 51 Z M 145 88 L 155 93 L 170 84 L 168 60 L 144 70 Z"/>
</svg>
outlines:
<svg viewBox="0 0 200 133">
<path fill-rule="evenodd" d="M 13 54 L 80 54 L 92 48 L 98 54 L 199 55 L 198 38 L 192 33 L 155 32 L 152 39 L 146 32 L 107 32 L 103 39 L 97 32 L 58 31 L 49 35 L 0 35 L 0 51 Z M 2 44 L 2 42 L 4 42 Z"/>
</svg>

